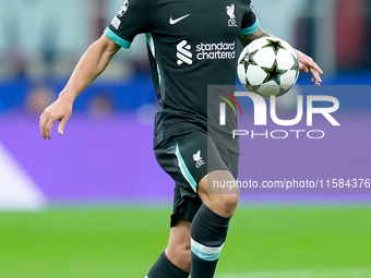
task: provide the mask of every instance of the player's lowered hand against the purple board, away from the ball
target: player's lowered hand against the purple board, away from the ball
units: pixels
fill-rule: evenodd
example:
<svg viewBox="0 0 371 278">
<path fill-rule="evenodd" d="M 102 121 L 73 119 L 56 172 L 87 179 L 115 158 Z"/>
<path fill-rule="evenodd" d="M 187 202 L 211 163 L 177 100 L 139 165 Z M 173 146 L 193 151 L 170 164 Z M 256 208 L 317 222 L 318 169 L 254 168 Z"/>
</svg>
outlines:
<svg viewBox="0 0 371 278">
<path fill-rule="evenodd" d="M 58 133 L 63 135 L 64 125 L 72 113 L 72 106 L 73 101 L 59 97 L 44 110 L 39 118 L 40 132 L 44 140 L 50 140 L 51 128 L 57 121 L 60 121 Z"/>
</svg>

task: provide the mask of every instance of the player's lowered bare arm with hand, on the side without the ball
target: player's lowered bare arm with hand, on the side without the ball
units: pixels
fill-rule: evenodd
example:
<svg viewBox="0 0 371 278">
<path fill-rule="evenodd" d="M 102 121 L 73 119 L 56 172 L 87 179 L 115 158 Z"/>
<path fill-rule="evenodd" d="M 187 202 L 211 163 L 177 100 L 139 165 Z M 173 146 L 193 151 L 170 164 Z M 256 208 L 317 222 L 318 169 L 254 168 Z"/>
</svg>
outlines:
<svg viewBox="0 0 371 278">
<path fill-rule="evenodd" d="M 52 125 L 57 121 L 60 121 L 58 133 L 63 134 L 64 125 L 71 117 L 75 98 L 104 72 L 119 49 L 120 46 L 105 35 L 92 44 L 80 59 L 58 99 L 41 113 L 39 124 L 43 138 L 50 140 Z"/>
</svg>

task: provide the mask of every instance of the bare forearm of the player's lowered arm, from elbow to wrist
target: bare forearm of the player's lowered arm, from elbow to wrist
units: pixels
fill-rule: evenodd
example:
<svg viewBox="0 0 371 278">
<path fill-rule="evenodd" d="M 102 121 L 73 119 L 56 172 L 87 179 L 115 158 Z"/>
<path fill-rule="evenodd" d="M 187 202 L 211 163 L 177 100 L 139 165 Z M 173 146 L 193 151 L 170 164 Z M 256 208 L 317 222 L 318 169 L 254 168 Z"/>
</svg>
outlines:
<svg viewBox="0 0 371 278">
<path fill-rule="evenodd" d="M 104 72 L 118 49 L 107 37 L 95 41 L 80 59 L 60 97 L 74 101 Z"/>
</svg>

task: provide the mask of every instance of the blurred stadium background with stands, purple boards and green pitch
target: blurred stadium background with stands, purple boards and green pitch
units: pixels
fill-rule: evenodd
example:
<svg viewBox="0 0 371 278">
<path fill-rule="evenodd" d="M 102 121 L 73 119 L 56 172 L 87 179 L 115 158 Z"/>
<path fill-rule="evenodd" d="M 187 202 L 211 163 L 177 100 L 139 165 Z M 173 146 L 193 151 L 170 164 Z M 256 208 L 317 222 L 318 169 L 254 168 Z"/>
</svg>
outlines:
<svg viewBox="0 0 371 278">
<path fill-rule="evenodd" d="M 342 128 L 320 125 L 330 135 L 315 143 L 241 141 L 241 179 L 370 179 L 371 1 L 253 3 L 264 29 L 324 69 L 322 90 L 308 89 L 339 99 Z M 165 247 L 172 182 L 152 150 L 158 107 L 143 36 L 80 96 L 63 136 L 38 131 L 121 4 L 0 0 L 1 278 L 144 277 Z M 371 277 L 370 196 L 244 194 L 219 277 Z"/>
</svg>

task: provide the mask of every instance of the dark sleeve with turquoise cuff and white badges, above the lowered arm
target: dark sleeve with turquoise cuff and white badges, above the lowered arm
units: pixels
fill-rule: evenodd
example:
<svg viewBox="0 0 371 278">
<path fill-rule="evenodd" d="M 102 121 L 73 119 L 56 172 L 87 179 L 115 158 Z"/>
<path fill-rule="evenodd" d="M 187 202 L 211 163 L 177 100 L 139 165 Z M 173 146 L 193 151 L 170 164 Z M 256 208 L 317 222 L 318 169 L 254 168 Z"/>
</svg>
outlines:
<svg viewBox="0 0 371 278">
<path fill-rule="evenodd" d="M 143 0 L 125 0 L 120 11 L 105 29 L 105 35 L 123 48 L 130 48 L 137 34 L 148 26 L 148 5 Z"/>
</svg>

